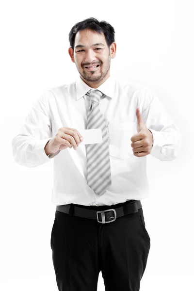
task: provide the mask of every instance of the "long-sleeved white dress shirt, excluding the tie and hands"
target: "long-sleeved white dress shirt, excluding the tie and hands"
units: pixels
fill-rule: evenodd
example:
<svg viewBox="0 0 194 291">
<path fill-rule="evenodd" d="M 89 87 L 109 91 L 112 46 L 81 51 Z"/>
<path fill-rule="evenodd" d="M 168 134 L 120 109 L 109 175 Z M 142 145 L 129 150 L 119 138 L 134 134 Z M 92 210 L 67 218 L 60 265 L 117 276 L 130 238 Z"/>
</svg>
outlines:
<svg viewBox="0 0 194 291">
<path fill-rule="evenodd" d="M 89 87 L 80 76 L 77 81 L 48 89 L 33 103 L 20 132 L 12 140 L 16 163 L 37 167 L 53 158 L 52 203 L 99 206 L 130 199 L 142 200 L 149 194 L 146 157 L 133 155 L 130 138 L 137 131 L 136 108 L 140 109 L 147 129 L 153 134 L 150 155 L 161 161 L 176 159 L 182 135 L 166 113 L 162 102 L 146 86 L 122 83 L 110 76 L 97 89 L 106 96 L 100 99 L 100 111 L 108 123 L 112 185 L 97 195 L 86 182 L 86 151 L 66 148 L 49 156 L 45 146 L 58 129 L 86 129 L 90 97 Z"/>
</svg>

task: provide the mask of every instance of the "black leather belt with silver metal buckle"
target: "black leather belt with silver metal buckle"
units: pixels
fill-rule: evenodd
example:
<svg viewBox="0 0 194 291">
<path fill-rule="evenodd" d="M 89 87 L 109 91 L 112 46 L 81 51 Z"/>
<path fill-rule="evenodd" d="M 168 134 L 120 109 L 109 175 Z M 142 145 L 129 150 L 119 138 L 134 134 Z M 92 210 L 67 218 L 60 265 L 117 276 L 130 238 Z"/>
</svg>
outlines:
<svg viewBox="0 0 194 291">
<path fill-rule="evenodd" d="M 120 204 L 120 203 L 119 203 Z M 90 207 L 90 206 L 89 206 Z M 110 223 L 116 218 L 138 212 L 138 209 L 142 208 L 140 200 L 129 200 L 123 204 L 123 206 L 116 207 L 116 204 L 107 206 L 106 210 L 92 210 L 88 208 L 82 208 L 75 206 L 74 204 L 57 205 L 56 210 L 64 213 L 68 213 L 69 216 L 80 216 L 83 218 L 95 219 L 99 223 Z"/>
</svg>

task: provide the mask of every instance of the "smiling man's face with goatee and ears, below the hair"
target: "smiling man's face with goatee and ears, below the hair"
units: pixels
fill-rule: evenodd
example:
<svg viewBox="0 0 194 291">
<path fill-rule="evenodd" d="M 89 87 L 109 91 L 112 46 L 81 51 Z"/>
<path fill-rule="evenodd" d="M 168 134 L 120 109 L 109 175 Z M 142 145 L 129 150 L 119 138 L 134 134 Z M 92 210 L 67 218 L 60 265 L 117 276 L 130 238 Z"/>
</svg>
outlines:
<svg viewBox="0 0 194 291">
<path fill-rule="evenodd" d="M 104 33 L 83 30 L 75 36 L 74 51 L 69 48 L 69 55 L 76 64 L 81 79 L 91 88 L 97 88 L 110 76 L 111 59 L 115 57 L 116 44 L 110 48 L 106 44 Z M 86 66 L 97 65 L 95 68 Z"/>
</svg>

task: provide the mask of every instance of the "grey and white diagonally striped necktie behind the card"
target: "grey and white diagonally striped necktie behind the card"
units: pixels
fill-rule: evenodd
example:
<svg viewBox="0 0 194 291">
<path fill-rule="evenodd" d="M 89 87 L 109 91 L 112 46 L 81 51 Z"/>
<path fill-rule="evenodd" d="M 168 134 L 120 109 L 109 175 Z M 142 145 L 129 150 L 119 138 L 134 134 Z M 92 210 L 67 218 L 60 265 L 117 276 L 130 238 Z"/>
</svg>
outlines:
<svg viewBox="0 0 194 291">
<path fill-rule="evenodd" d="M 103 96 L 103 93 L 97 89 L 90 89 L 86 95 L 88 95 L 91 100 L 87 113 L 86 129 L 101 128 L 102 130 L 101 143 L 85 145 L 87 159 L 87 185 L 96 194 L 101 195 L 112 183 L 107 125 L 99 108 L 100 97 Z"/>
</svg>

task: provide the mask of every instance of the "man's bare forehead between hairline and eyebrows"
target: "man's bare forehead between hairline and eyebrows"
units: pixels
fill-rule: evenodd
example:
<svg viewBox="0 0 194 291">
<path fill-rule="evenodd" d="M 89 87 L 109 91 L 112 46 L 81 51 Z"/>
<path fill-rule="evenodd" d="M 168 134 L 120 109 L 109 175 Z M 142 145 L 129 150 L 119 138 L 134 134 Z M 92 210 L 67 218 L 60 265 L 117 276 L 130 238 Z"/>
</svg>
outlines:
<svg viewBox="0 0 194 291">
<path fill-rule="evenodd" d="M 75 47 L 77 45 L 82 46 L 91 46 L 96 43 L 102 43 L 104 46 L 106 45 L 104 33 L 97 33 L 96 31 L 92 30 L 82 30 L 76 33 L 75 36 Z"/>
</svg>

